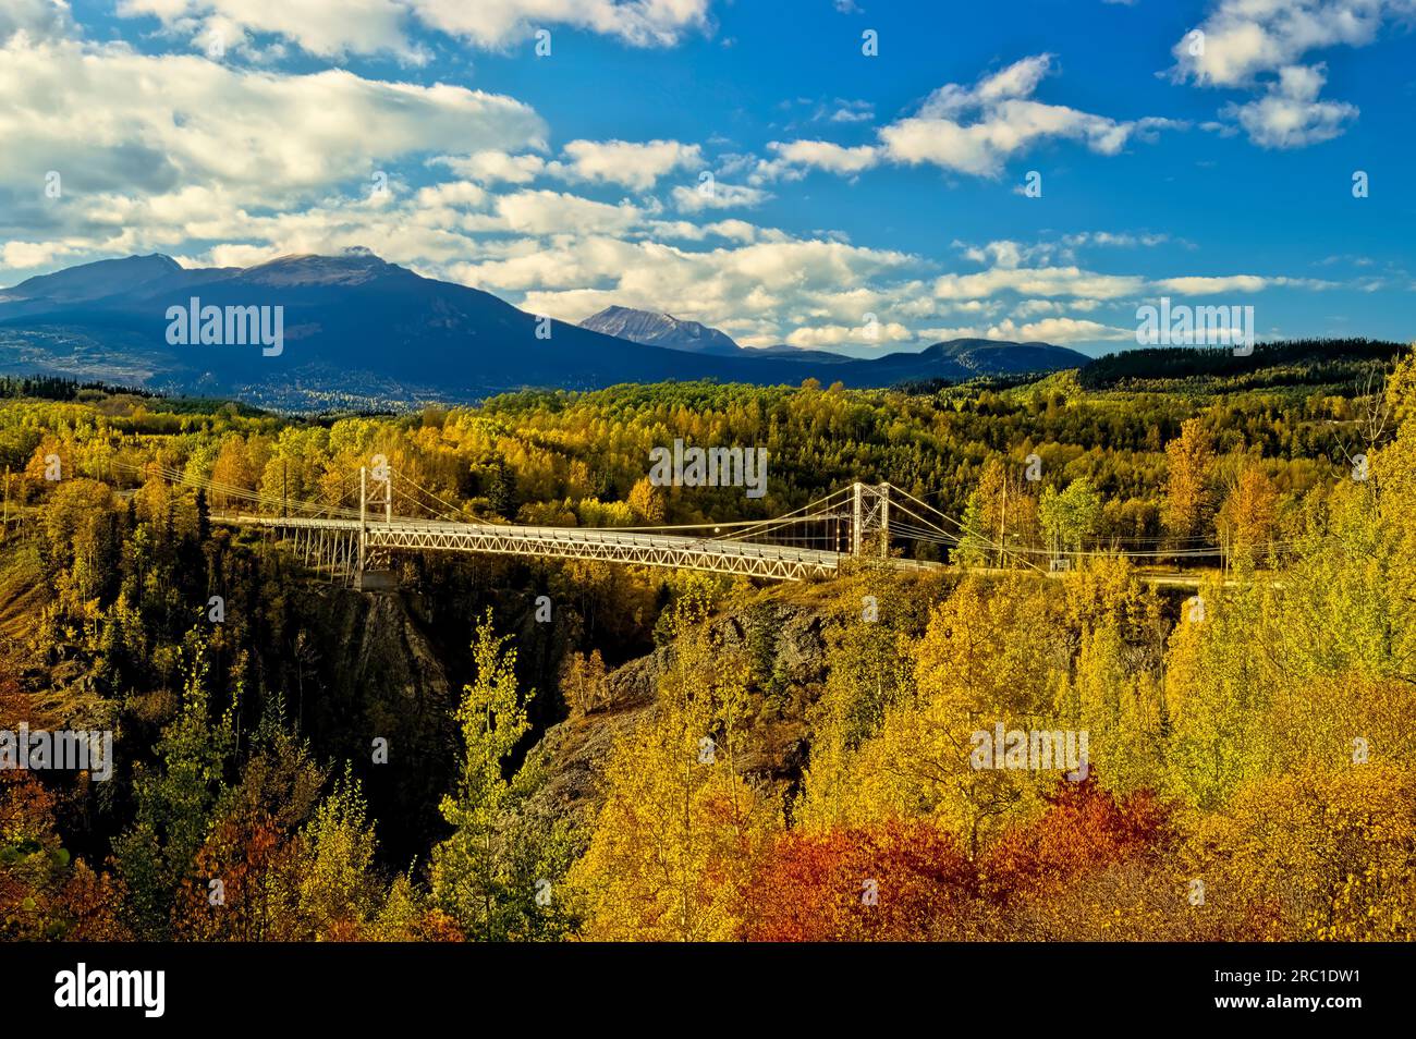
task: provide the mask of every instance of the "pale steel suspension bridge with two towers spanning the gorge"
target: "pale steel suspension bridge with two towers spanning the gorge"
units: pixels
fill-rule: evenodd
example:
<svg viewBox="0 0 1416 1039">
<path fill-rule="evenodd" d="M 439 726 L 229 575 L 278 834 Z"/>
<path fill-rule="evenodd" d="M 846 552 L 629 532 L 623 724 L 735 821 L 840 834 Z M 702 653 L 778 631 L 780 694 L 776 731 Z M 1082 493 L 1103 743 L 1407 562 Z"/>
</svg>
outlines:
<svg viewBox="0 0 1416 1039">
<path fill-rule="evenodd" d="M 152 471 L 152 466 L 144 471 Z M 171 483 L 197 487 L 208 501 L 239 503 L 241 508 L 212 508 L 214 522 L 268 531 L 286 542 L 306 565 L 361 590 L 395 585 L 395 553 L 464 552 L 528 558 L 588 559 L 639 566 L 664 566 L 743 575 L 769 580 L 830 578 L 848 561 L 901 570 L 929 570 L 944 563 L 906 555 L 912 546 L 957 548 L 960 541 L 1004 565 L 1061 576 L 1072 561 L 1089 555 L 1155 558 L 1211 556 L 1215 548 L 1161 552 L 1039 549 L 1000 544 L 964 527 L 933 505 L 888 483 L 852 483 L 817 501 L 770 520 L 650 527 L 549 527 L 489 522 L 472 518 L 408 476 L 395 474 L 381 459 L 358 473 L 357 487 L 324 493 L 324 501 L 296 501 L 195 478 L 159 467 Z M 357 504 L 350 500 L 357 490 Z M 399 514 L 395 514 L 395 501 Z M 346 504 L 350 503 L 350 504 Z M 1061 565 L 1059 565 L 1061 563 Z M 977 569 L 977 568 L 976 568 Z M 1194 573 L 1150 573 L 1153 585 L 1198 587 Z"/>
</svg>

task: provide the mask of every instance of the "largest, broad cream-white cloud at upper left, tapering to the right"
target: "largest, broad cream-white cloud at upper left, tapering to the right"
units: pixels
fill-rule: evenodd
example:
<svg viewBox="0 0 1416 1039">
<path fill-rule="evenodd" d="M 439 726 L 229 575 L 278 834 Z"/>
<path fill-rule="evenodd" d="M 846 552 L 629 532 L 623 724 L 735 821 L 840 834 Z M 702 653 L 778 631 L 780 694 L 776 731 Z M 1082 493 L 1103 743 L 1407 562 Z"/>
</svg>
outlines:
<svg viewBox="0 0 1416 1039">
<path fill-rule="evenodd" d="M 521 102 L 463 86 L 280 75 L 194 55 L 75 41 L 0 47 L 0 183 L 55 170 L 72 190 L 159 194 L 219 187 L 275 202 L 367 180 L 425 151 L 541 146 Z"/>
</svg>

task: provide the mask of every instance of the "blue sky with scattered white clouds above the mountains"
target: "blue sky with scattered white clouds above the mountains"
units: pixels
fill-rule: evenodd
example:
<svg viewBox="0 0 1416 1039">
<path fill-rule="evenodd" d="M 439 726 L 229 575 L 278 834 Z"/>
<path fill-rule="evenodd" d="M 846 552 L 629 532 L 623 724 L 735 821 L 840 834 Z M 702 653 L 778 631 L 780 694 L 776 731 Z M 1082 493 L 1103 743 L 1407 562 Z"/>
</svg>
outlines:
<svg viewBox="0 0 1416 1039">
<path fill-rule="evenodd" d="M 1413 25 L 1416 0 L 7 0 L 0 285 L 364 245 L 750 345 L 1104 352 L 1161 296 L 1409 340 Z"/>
</svg>

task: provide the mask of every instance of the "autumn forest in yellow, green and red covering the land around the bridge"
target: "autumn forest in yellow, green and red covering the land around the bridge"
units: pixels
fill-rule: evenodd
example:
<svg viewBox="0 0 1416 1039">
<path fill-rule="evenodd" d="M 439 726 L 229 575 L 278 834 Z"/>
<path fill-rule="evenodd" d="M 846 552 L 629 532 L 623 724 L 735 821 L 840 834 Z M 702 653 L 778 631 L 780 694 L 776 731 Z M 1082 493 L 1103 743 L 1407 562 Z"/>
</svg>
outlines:
<svg viewBox="0 0 1416 1039">
<path fill-rule="evenodd" d="M 115 763 L 0 769 L 0 937 L 1410 940 L 1416 355 L 1259 351 L 398 415 L 10 379 L 0 730 Z M 675 437 L 765 447 L 766 495 L 654 486 Z M 428 515 L 861 480 L 964 535 L 782 585 L 409 553 L 361 593 L 224 521 L 357 505 L 375 456 Z M 1085 774 L 978 767 L 998 726 L 1085 733 Z"/>
</svg>

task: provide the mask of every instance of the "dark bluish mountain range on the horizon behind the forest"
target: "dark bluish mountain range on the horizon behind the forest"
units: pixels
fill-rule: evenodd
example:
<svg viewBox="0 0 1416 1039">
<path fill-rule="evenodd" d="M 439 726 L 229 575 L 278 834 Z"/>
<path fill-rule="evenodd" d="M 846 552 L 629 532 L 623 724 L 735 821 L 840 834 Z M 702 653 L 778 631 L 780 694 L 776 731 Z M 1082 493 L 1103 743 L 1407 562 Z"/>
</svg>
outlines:
<svg viewBox="0 0 1416 1039">
<path fill-rule="evenodd" d="M 266 331 L 279 331 L 279 348 L 255 343 L 255 323 L 251 335 L 241 337 L 242 323 L 253 321 L 259 309 L 266 309 Z M 953 340 L 869 360 L 745 348 L 697 321 L 627 307 L 575 326 L 528 314 L 479 289 L 422 277 L 367 249 L 195 269 L 154 253 L 0 289 L 0 372 L 292 409 L 460 402 L 525 386 L 593 389 L 664 379 L 797 385 L 818 378 L 888 386 L 1056 371 L 1086 361 L 1046 343 L 993 340 Z"/>
</svg>

